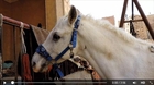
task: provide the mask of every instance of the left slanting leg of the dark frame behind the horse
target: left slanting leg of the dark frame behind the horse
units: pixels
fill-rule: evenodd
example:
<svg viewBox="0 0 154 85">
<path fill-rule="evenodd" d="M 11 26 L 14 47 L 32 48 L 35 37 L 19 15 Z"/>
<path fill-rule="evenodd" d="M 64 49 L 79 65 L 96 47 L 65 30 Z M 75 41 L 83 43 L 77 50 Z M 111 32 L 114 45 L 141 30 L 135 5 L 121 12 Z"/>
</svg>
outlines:
<svg viewBox="0 0 154 85">
<path fill-rule="evenodd" d="M 125 15 L 127 7 L 128 7 L 128 0 L 124 0 L 123 10 L 122 10 L 122 15 L 121 15 L 121 20 L 120 20 L 120 25 L 119 25 L 119 27 L 123 27 L 124 15 Z"/>
</svg>

